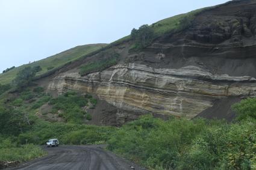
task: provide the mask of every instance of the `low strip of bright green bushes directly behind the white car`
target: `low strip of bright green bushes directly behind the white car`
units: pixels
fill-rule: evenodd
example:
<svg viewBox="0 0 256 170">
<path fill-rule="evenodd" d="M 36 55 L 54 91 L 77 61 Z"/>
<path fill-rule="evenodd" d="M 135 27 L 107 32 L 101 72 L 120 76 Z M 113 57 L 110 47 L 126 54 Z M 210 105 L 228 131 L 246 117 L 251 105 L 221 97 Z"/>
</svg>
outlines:
<svg viewBox="0 0 256 170">
<path fill-rule="evenodd" d="M 88 126 L 85 124 L 49 123 L 40 121 L 33 126 L 30 132 L 21 133 L 18 144 L 45 144 L 52 138 L 58 138 L 61 144 L 95 144 L 105 143 L 115 127 Z"/>
</svg>

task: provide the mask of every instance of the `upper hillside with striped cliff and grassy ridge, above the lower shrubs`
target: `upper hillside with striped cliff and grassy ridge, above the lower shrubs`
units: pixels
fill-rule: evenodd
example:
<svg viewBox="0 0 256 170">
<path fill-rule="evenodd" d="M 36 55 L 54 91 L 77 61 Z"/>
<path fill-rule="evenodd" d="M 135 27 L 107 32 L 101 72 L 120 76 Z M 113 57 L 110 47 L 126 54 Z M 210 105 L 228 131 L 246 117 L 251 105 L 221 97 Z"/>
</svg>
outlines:
<svg viewBox="0 0 256 170">
<path fill-rule="evenodd" d="M 226 2 L 150 25 L 146 46 L 129 35 L 30 65 L 43 67 L 37 83 L 48 93 L 79 91 L 100 99 L 93 124 L 122 124 L 148 112 L 230 121 L 230 106 L 256 95 L 254 8 L 255 1 Z M 0 83 L 23 67 L 0 74 Z"/>
</svg>

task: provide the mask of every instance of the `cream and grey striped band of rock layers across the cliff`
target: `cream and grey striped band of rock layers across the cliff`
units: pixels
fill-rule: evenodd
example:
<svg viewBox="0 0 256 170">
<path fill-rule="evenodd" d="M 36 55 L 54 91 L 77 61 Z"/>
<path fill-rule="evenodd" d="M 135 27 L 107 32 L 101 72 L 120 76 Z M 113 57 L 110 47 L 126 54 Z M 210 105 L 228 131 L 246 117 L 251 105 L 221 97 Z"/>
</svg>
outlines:
<svg viewBox="0 0 256 170">
<path fill-rule="evenodd" d="M 213 106 L 216 99 L 255 96 L 256 79 L 211 74 L 199 67 L 155 69 L 141 64 L 120 64 L 81 77 L 63 73 L 49 90 L 93 93 L 117 108 L 193 118 Z"/>
</svg>

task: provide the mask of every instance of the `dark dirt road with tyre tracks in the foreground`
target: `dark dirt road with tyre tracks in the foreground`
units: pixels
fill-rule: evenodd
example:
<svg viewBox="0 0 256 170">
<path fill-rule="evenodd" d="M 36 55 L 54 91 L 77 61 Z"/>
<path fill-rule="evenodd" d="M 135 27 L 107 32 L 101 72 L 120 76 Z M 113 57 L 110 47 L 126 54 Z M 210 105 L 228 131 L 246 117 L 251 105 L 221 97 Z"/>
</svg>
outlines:
<svg viewBox="0 0 256 170">
<path fill-rule="evenodd" d="M 122 170 L 143 169 L 128 160 L 105 151 L 102 145 L 60 146 L 44 149 L 48 156 L 27 162 L 12 169 L 88 169 L 88 170 Z"/>
</svg>

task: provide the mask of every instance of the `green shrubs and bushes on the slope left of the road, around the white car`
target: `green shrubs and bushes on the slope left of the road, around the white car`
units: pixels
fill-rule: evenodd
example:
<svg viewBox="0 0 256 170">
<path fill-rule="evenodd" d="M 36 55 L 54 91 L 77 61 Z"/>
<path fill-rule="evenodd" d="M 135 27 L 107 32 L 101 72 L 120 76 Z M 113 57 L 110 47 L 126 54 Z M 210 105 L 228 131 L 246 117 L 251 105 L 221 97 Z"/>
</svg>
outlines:
<svg viewBox="0 0 256 170">
<path fill-rule="evenodd" d="M 43 156 L 38 145 L 51 138 L 61 144 L 105 144 L 116 130 L 86 124 L 92 120 L 86 108 L 97 105 L 90 94 L 67 91 L 52 97 L 37 87 L 32 80 L 39 70 L 40 66 L 20 70 L 11 91 L 11 85 L 0 85 L 0 167 Z M 42 111 L 43 106 L 47 111 Z"/>
</svg>

